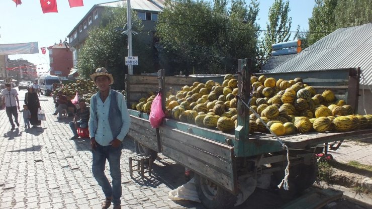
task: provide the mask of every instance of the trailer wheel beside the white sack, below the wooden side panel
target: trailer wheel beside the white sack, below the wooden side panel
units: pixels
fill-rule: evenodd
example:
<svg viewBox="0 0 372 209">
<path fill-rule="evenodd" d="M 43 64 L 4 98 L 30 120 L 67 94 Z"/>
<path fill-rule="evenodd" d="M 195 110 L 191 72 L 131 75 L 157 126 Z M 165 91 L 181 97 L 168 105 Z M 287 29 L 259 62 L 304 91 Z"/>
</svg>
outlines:
<svg viewBox="0 0 372 209">
<path fill-rule="evenodd" d="M 207 208 L 232 208 L 237 197 L 208 178 L 195 173 L 195 185 L 198 196 Z"/>
</svg>

